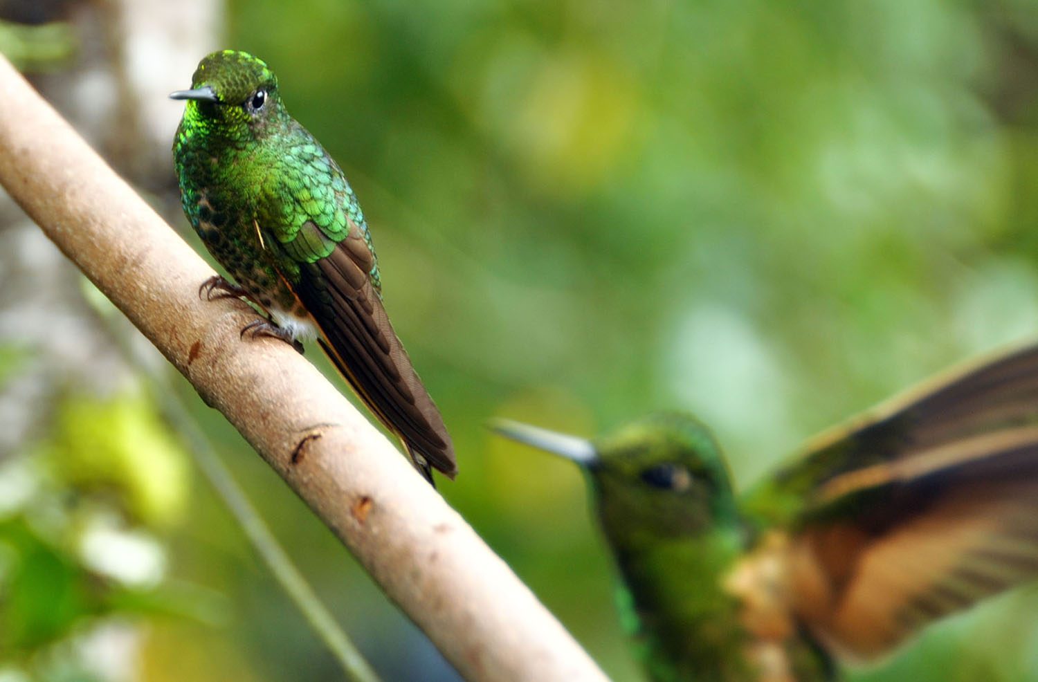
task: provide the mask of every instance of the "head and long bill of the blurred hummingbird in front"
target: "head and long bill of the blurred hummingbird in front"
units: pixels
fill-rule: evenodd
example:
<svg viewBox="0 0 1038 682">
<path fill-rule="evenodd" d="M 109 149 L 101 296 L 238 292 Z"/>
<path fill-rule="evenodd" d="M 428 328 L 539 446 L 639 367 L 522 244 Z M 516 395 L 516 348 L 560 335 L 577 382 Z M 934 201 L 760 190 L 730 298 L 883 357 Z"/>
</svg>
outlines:
<svg viewBox="0 0 1038 682">
<path fill-rule="evenodd" d="M 620 544 L 694 536 L 736 518 L 720 449 L 689 415 L 653 414 L 594 441 L 511 421 L 495 429 L 579 464 L 606 535 Z"/>
</svg>

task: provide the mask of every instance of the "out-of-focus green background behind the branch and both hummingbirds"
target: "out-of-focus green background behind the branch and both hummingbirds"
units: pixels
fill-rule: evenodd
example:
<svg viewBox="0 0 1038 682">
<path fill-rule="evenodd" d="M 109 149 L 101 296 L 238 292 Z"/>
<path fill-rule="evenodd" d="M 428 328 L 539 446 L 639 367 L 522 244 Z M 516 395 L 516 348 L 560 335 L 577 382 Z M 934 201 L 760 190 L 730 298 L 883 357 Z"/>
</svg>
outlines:
<svg viewBox="0 0 1038 682">
<path fill-rule="evenodd" d="M 1035 0 L 4 0 L 0 17 L 0 51 L 196 246 L 165 93 L 216 48 L 268 61 L 364 207 L 457 443 L 444 496 L 617 680 L 640 678 L 583 483 L 490 417 L 590 435 L 691 410 L 746 486 L 814 432 L 1038 336 Z M 339 679 L 193 470 L 144 346 L 0 204 L 0 680 Z M 379 672 L 456 679 L 173 385 Z M 1035 679 L 1036 612 L 1022 589 L 853 678 Z"/>
</svg>

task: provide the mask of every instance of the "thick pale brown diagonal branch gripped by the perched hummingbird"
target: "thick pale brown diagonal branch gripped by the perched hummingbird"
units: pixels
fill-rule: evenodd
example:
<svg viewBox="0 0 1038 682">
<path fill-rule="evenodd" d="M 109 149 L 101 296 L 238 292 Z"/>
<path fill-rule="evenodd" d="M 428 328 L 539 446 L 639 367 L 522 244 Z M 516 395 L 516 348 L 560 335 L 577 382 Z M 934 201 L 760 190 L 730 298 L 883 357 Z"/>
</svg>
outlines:
<svg viewBox="0 0 1038 682">
<path fill-rule="evenodd" d="M 605 679 L 509 567 L 306 359 L 280 342 L 242 342 L 239 331 L 255 319 L 244 303 L 199 300 L 199 284 L 213 274 L 209 266 L 3 58 L 0 102 L 0 184 L 463 676 Z M 464 475 L 464 453 L 461 460 Z"/>
</svg>

